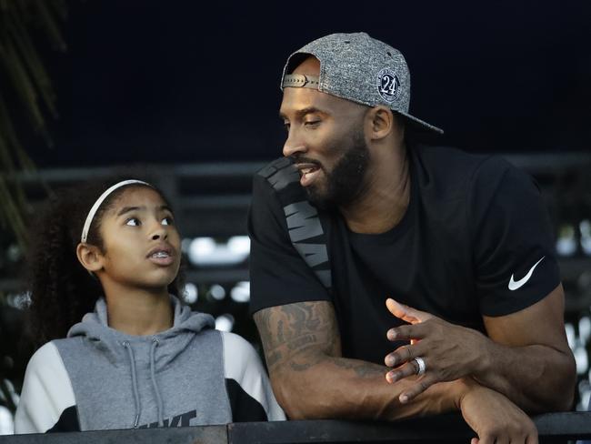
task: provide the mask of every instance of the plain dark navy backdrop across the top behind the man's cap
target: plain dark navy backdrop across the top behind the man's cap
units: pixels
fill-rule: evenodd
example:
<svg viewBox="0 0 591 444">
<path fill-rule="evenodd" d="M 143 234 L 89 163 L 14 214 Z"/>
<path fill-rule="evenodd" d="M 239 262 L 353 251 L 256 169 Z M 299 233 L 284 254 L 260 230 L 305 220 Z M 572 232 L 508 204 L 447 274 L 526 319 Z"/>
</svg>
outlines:
<svg viewBox="0 0 591 444">
<path fill-rule="evenodd" d="M 591 3 L 71 1 L 44 51 L 55 147 L 38 166 L 267 160 L 284 138 L 285 58 L 333 32 L 401 50 L 411 113 L 477 152 L 591 148 Z"/>
</svg>

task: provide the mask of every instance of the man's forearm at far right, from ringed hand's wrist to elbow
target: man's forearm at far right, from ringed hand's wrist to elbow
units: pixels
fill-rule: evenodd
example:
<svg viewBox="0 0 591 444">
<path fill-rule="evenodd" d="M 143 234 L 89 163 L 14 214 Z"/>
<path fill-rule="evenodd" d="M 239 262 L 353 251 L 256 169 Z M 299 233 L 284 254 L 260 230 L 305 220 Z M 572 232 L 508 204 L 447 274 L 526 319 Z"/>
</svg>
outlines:
<svg viewBox="0 0 591 444">
<path fill-rule="evenodd" d="M 530 413 L 570 409 L 575 363 L 568 354 L 541 345 L 506 347 L 487 341 L 476 380 Z"/>
</svg>

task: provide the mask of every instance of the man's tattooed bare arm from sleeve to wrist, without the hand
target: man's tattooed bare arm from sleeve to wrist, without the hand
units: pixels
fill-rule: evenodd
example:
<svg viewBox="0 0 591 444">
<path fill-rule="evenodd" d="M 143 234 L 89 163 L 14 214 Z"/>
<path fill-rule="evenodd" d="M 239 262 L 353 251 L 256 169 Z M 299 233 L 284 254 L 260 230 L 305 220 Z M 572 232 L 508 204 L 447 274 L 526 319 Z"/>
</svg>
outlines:
<svg viewBox="0 0 591 444">
<path fill-rule="evenodd" d="M 255 313 L 255 322 L 275 397 L 291 419 L 388 420 L 457 409 L 461 382 L 437 384 L 403 405 L 398 398 L 416 378 L 388 384 L 385 366 L 342 358 L 327 301 L 265 308 Z"/>
</svg>

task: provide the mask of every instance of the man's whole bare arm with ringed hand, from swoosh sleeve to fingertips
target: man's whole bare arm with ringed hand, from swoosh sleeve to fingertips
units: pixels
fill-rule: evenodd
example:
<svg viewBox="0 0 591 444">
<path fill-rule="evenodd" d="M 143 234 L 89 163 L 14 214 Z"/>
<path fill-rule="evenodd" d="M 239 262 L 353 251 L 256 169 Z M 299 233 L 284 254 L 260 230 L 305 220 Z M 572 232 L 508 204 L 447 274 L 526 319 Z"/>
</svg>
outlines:
<svg viewBox="0 0 591 444">
<path fill-rule="evenodd" d="M 400 402 L 416 398 L 436 382 L 471 377 L 528 413 L 564 411 L 572 406 L 576 366 L 566 341 L 561 285 L 527 308 L 483 316 L 487 336 L 393 299 L 386 306 L 410 324 L 387 333 L 391 340 L 410 340 L 410 345 L 385 358 L 387 366 L 395 367 L 386 374 L 388 381 L 412 382 L 400 392 Z M 415 358 L 424 360 L 426 372 L 407 378 L 419 369 Z"/>
</svg>

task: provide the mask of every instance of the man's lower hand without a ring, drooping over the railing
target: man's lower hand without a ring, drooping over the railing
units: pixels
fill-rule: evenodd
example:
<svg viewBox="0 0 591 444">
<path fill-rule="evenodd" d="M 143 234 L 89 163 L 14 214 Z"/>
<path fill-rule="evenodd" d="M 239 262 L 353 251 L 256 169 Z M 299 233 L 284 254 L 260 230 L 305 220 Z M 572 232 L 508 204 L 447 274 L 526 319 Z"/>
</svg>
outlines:
<svg viewBox="0 0 591 444">
<path fill-rule="evenodd" d="M 513 402 L 494 390 L 469 382 L 460 399 L 462 416 L 478 435 L 471 444 L 520 442 L 537 444 L 534 422 Z"/>
</svg>

